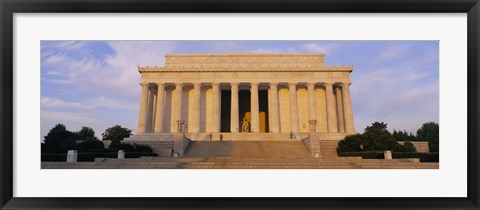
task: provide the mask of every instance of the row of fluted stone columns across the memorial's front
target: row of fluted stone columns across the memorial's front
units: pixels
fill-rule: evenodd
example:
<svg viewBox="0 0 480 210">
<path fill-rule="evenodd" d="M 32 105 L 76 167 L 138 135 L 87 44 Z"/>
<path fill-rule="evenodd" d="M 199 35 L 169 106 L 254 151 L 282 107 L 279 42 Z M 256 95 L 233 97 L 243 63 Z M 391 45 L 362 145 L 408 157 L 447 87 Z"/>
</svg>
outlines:
<svg viewBox="0 0 480 210">
<path fill-rule="evenodd" d="M 212 84 L 212 132 L 220 132 L 220 110 L 221 110 L 221 95 L 220 84 Z M 145 132 L 163 132 L 163 116 L 164 116 L 164 92 L 165 84 L 157 83 L 156 94 L 150 91 L 149 84 L 142 85 L 142 94 L 140 99 L 140 112 L 138 118 L 137 133 Z M 239 108 L 238 108 L 238 90 L 239 83 L 230 83 L 231 85 L 231 116 L 230 116 L 230 132 L 239 132 Z M 250 83 L 251 91 L 251 124 L 250 129 L 253 133 L 260 132 L 260 112 L 259 112 L 259 100 L 258 100 L 258 85 L 259 83 Z M 325 98 L 327 108 L 327 130 L 329 133 L 355 133 L 353 122 L 353 111 L 350 98 L 350 88 L 348 83 L 341 83 L 340 86 L 336 86 L 334 90 L 333 83 L 324 83 L 325 85 Z M 290 122 L 292 132 L 299 132 L 299 117 L 298 117 L 298 104 L 297 104 L 297 84 L 289 83 L 289 95 L 290 95 Z M 316 102 L 315 102 L 315 84 L 308 83 L 308 112 L 309 120 L 317 120 L 316 114 Z M 271 90 L 271 103 L 273 106 L 270 108 L 270 130 L 272 133 L 280 132 L 280 120 L 279 120 L 279 97 L 278 97 L 278 83 L 270 83 Z M 182 107 L 182 94 L 183 83 L 175 83 L 175 99 L 174 103 L 177 107 Z M 335 91 L 335 92 L 334 92 Z M 193 113 L 190 123 L 192 132 L 200 131 L 200 92 L 201 83 L 193 84 Z M 153 109 L 154 101 L 156 100 L 156 107 Z M 152 107 L 152 108 L 149 108 Z M 154 115 L 155 113 L 155 115 Z M 173 119 L 181 119 L 181 109 L 176 109 L 175 113 L 172 113 Z M 155 124 L 152 126 L 155 116 Z M 153 128 L 153 129 L 149 129 Z"/>
</svg>

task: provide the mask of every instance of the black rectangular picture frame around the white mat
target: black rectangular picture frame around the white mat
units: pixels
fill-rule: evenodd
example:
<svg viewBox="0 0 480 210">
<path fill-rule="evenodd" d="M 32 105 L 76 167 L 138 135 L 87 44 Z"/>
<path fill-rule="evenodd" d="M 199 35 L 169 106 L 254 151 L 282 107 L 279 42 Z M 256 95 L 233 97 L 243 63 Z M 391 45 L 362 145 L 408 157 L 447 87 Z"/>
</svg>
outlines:
<svg viewBox="0 0 480 210">
<path fill-rule="evenodd" d="M 479 209 L 478 0 L 0 0 L 1 209 Z M 465 198 L 17 198 L 13 197 L 15 13 L 467 13 L 468 188 Z M 451 69 L 454 71 L 454 69 Z"/>
</svg>

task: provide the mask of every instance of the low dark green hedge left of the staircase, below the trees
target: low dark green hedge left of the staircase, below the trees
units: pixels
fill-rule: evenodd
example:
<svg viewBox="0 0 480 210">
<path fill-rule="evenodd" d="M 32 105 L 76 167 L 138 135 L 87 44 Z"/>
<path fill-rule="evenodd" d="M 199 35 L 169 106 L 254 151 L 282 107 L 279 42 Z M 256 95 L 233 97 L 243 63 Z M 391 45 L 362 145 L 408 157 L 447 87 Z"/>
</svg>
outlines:
<svg viewBox="0 0 480 210">
<path fill-rule="evenodd" d="M 158 156 L 156 153 L 152 152 L 125 152 L 125 158 L 139 158 L 141 156 Z M 77 161 L 78 162 L 93 162 L 95 158 L 117 158 L 118 153 L 95 153 L 95 152 L 83 152 L 78 153 Z M 44 153 L 42 154 L 42 162 L 66 162 L 67 154 L 55 154 L 55 153 Z"/>
</svg>

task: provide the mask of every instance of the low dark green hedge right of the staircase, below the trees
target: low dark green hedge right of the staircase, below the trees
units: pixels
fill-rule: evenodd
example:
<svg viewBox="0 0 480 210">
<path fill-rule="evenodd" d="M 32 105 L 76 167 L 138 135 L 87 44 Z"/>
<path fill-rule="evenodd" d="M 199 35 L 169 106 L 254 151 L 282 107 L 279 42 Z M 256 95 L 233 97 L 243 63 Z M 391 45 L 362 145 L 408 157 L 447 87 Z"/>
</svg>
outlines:
<svg viewBox="0 0 480 210">
<path fill-rule="evenodd" d="M 340 157 L 362 157 L 363 159 L 383 159 L 383 152 L 340 152 Z M 392 152 L 394 159 L 398 158 L 420 158 L 420 162 L 438 162 L 439 155 L 437 153 L 420 153 L 420 152 Z"/>
</svg>

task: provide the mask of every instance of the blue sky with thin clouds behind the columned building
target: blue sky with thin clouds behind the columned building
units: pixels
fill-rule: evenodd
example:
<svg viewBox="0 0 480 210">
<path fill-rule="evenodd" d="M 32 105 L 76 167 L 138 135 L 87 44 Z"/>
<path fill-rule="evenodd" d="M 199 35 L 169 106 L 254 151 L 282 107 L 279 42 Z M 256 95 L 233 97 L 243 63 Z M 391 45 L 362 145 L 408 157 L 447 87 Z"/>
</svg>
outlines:
<svg viewBox="0 0 480 210">
<path fill-rule="evenodd" d="M 438 41 L 41 41 L 41 139 L 58 123 L 115 124 L 135 133 L 137 66 L 163 66 L 165 54 L 325 53 L 326 65 L 354 65 L 350 86 L 357 132 L 373 122 L 415 133 L 439 120 Z"/>
</svg>

